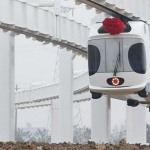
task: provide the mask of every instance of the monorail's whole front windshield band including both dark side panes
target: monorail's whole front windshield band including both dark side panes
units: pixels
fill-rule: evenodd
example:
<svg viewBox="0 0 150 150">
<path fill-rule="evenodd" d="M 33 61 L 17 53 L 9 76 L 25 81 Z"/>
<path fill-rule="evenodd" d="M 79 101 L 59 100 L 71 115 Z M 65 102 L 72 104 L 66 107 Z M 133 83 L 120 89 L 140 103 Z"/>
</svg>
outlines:
<svg viewBox="0 0 150 150">
<path fill-rule="evenodd" d="M 146 72 L 146 52 L 141 39 L 90 40 L 88 45 L 89 74 Z"/>
</svg>

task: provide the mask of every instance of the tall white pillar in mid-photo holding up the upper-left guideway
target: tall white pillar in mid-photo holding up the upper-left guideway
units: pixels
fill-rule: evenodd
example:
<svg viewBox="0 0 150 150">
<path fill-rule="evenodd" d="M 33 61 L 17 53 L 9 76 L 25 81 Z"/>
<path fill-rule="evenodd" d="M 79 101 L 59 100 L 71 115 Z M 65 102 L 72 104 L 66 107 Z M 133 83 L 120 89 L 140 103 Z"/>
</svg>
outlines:
<svg viewBox="0 0 150 150">
<path fill-rule="evenodd" d="M 62 51 L 59 58 L 60 142 L 73 142 L 73 59 Z"/>
</svg>

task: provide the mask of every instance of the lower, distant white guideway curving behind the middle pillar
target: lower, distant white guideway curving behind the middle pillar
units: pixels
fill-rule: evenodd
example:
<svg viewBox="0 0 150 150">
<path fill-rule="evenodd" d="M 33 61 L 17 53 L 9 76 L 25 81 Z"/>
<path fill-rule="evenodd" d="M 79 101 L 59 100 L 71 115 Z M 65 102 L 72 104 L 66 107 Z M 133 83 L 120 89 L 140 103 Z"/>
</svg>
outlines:
<svg viewBox="0 0 150 150">
<path fill-rule="evenodd" d="M 81 102 L 91 99 L 89 92 L 88 72 L 73 80 L 73 101 Z M 51 105 L 52 100 L 59 99 L 59 84 L 15 92 L 15 108 L 33 108 Z"/>
</svg>

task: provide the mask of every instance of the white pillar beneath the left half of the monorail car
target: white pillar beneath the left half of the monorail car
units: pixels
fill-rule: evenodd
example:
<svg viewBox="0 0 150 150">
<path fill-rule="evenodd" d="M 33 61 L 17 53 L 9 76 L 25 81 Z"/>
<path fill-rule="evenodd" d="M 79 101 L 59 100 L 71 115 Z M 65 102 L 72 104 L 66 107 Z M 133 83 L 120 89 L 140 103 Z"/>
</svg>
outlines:
<svg viewBox="0 0 150 150">
<path fill-rule="evenodd" d="M 111 102 L 109 96 L 91 100 L 91 141 L 108 143 L 111 133 Z"/>
</svg>

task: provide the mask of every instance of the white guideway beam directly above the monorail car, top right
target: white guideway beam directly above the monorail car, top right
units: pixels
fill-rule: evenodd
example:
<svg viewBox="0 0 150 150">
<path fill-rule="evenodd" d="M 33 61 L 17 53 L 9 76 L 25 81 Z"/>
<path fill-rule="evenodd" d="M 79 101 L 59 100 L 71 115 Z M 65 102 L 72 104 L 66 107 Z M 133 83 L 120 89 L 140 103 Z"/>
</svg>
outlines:
<svg viewBox="0 0 150 150">
<path fill-rule="evenodd" d="M 97 13 L 105 12 L 113 17 L 121 16 L 150 24 L 149 0 L 75 0 L 75 3 L 84 3 L 87 9 L 95 8 Z"/>
</svg>

